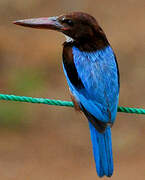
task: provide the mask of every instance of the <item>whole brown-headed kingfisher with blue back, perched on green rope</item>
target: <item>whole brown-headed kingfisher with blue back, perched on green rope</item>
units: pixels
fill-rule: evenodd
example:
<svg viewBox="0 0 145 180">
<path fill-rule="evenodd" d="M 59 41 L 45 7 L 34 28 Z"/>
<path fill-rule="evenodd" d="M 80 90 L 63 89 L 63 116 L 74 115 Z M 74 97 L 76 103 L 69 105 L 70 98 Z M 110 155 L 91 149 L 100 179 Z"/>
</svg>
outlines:
<svg viewBox="0 0 145 180">
<path fill-rule="evenodd" d="M 96 171 L 114 171 L 111 128 L 117 115 L 120 76 L 116 55 L 98 21 L 85 12 L 14 21 L 65 35 L 62 64 L 77 111 L 88 119 Z"/>
</svg>

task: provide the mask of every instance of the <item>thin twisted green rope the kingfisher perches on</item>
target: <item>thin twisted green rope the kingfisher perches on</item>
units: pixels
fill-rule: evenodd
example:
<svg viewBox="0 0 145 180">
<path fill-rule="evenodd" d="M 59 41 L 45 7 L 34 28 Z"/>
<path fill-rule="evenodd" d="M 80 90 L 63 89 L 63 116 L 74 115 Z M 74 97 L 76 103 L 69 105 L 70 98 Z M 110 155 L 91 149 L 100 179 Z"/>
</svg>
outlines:
<svg viewBox="0 0 145 180">
<path fill-rule="evenodd" d="M 68 107 L 74 106 L 73 102 L 71 101 L 61 101 L 61 100 L 46 99 L 46 98 L 32 98 L 32 97 L 15 96 L 8 94 L 0 94 L 0 100 L 39 103 L 39 104 L 48 104 L 54 106 L 68 106 Z M 118 112 L 145 114 L 145 109 L 118 106 Z"/>
</svg>

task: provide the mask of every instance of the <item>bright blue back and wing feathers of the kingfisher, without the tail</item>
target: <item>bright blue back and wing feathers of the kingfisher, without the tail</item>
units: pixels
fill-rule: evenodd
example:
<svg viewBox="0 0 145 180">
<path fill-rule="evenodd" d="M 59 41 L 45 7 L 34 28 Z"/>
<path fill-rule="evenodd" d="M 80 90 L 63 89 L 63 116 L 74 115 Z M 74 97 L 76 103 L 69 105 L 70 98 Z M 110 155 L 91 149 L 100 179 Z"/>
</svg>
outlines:
<svg viewBox="0 0 145 180">
<path fill-rule="evenodd" d="M 70 90 L 84 108 L 102 122 L 114 122 L 119 97 L 118 67 L 110 46 L 95 52 L 72 47 L 74 65 L 84 88 L 75 87 L 64 68 Z"/>
</svg>

